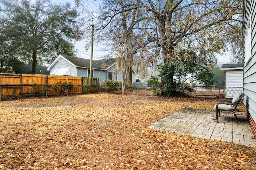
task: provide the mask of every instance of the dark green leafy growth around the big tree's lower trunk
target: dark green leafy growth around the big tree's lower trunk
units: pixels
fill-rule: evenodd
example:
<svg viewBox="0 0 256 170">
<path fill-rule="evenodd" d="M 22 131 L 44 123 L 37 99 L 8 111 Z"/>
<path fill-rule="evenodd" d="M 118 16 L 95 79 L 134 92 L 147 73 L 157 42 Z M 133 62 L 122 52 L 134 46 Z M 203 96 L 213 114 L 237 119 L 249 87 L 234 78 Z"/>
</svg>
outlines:
<svg viewBox="0 0 256 170">
<path fill-rule="evenodd" d="M 213 83 L 211 60 L 207 60 L 196 52 L 183 49 L 178 54 L 179 60 L 161 65 L 160 76 L 165 77 L 162 94 L 164 96 L 186 95 L 193 91 L 187 80 L 193 79 L 209 86 Z"/>
</svg>

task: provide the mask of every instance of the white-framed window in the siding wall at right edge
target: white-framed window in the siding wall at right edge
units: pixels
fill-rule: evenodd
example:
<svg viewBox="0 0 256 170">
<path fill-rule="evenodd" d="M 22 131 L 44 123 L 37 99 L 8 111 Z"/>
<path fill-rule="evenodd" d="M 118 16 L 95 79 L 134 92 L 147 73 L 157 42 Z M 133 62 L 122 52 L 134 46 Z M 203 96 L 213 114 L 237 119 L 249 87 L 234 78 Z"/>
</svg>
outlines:
<svg viewBox="0 0 256 170">
<path fill-rule="evenodd" d="M 245 57 L 244 57 L 244 63 L 246 64 L 251 57 L 251 16 L 249 16 L 249 20 L 246 27 L 246 33 L 245 33 Z"/>
</svg>

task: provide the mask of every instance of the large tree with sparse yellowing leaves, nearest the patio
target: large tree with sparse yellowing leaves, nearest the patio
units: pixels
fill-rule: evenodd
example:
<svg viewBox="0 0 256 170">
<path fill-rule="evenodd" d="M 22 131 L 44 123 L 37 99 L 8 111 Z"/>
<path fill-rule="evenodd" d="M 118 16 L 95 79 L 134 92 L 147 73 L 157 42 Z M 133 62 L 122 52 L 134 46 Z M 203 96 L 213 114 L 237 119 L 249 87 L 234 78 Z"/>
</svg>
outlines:
<svg viewBox="0 0 256 170">
<path fill-rule="evenodd" d="M 174 91 L 175 64 L 180 63 L 182 49 L 198 51 L 200 58 L 212 57 L 213 53 L 225 51 L 228 40 L 239 34 L 230 27 L 242 26 L 242 0 L 140 0 L 140 3 L 154 16 L 151 25 L 156 27 L 148 31 L 148 39 L 162 49 L 164 63 L 169 65 L 168 73 L 162 74 L 162 83 Z"/>
</svg>

